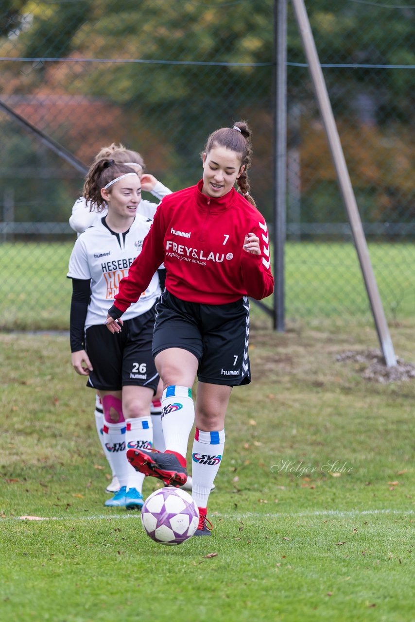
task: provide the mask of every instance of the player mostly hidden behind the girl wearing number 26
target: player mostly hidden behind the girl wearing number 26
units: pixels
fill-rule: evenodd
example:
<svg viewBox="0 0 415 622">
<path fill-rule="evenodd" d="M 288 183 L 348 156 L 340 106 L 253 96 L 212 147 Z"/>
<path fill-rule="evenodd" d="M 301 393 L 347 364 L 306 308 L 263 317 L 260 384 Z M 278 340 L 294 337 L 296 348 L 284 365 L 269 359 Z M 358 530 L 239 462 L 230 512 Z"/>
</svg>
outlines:
<svg viewBox="0 0 415 622">
<path fill-rule="evenodd" d="M 171 194 L 171 190 L 164 186 L 159 180 L 149 173 L 144 172 L 146 165 L 142 159 L 141 154 L 138 151 L 126 149 L 122 144 L 113 142 L 108 147 L 102 147 L 98 154 L 96 154 L 94 162 L 99 162 L 102 159 L 113 159 L 117 164 L 128 164 L 141 179 L 141 189 L 151 193 L 157 200 L 161 200 L 168 194 Z M 146 199 L 142 199 L 138 206 L 138 213 L 148 218 L 153 218 L 156 213 L 158 203 L 152 203 Z M 74 231 L 77 231 L 78 235 L 83 233 L 88 227 L 98 222 L 107 213 L 106 205 L 103 206 L 102 211 L 96 210 L 96 205 L 91 204 L 85 197 L 78 198 L 72 207 L 72 215 L 69 219 L 69 224 Z M 164 289 L 164 279 L 166 278 L 166 271 L 164 269 L 159 270 L 159 279 L 161 281 L 161 288 Z M 159 395 L 155 396 L 155 399 L 151 403 L 151 420 L 153 425 L 153 444 L 161 450 L 164 449 L 164 437 L 161 426 L 161 402 L 158 399 L 161 397 L 162 387 L 159 391 Z M 99 394 L 96 394 L 95 398 L 95 425 L 98 438 L 101 442 L 101 447 L 105 457 L 112 471 L 112 480 L 106 486 L 108 493 L 116 493 L 119 490 L 118 478 L 115 475 L 112 454 L 108 451 L 108 447 L 105 445 L 103 437 L 103 409 Z M 187 487 L 191 488 L 191 481 L 187 482 Z"/>
</svg>

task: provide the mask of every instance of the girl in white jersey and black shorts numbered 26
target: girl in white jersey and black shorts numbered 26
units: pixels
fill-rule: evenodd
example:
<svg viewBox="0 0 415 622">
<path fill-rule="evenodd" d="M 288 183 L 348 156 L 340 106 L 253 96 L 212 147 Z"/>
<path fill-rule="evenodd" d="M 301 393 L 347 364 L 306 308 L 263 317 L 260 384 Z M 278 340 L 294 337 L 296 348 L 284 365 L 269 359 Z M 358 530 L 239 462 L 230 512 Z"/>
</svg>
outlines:
<svg viewBox="0 0 415 622">
<path fill-rule="evenodd" d="M 121 486 L 105 504 L 141 508 L 144 476 L 129 465 L 126 448 L 152 447 L 150 404 L 159 383 L 151 355 L 154 306 L 161 294 L 157 274 L 131 305 L 122 333 L 114 338 L 103 321 L 119 281 L 141 253 L 151 220 L 138 213 L 139 175 L 114 160 L 93 164 L 83 196 L 98 214 L 105 207 L 108 213 L 79 236 L 70 256 L 72 364 L 88 376 L 87 386 L 98 389 L 103 404 L 105 446 Z"/>
</svg>

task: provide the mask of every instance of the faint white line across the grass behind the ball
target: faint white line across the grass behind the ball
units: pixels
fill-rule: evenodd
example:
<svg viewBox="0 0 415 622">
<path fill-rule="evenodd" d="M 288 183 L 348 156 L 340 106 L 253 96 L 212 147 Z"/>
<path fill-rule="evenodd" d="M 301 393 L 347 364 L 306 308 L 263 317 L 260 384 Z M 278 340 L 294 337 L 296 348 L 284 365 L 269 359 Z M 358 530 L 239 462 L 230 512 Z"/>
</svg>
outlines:
<svg viewBox="0 0 415 622">
<path fill-rule="evenodd" d="M 414 514 L 415 511 L 412 509 L 404 510 L 404 509 L 367 509 L 367 510 L 323 510 L 323 511 L 312 511 L 312 512 L 276 512 L 276 513 L 261 513 L 261 512 L 246 512 L 246 513 L 221 513 L 214 512 L 212 516 L 214 518 L 226 518 L 233 520 L 240 519 L 249 519 L 249 518 L 297 518 L 297 517 L 307 517 L 312 518 L 313 516 L 328 516 L 329 518 L 348 518 L 355 516 L 370 516 L 376 514 L 391 514 L 392 516 L 396 515 L 409 515 Z M 28 521 L 116 521 L 118 519 L 139 519 L 141 514 L 139 512 L 135 512 L 134 514 L 93 514 L 91 516 L 5 516 L 0 519 L 0 523 L 2 521 L 16 521 L 16 520 L 28 520 Z"/>
</svg>

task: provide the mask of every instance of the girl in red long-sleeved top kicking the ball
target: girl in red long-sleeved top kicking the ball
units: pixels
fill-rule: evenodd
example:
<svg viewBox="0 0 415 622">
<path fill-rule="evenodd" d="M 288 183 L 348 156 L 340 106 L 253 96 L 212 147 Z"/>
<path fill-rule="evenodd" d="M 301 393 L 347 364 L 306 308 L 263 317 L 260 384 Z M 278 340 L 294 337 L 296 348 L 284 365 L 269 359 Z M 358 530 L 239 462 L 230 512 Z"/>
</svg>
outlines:
<svg viewBox="0 0 415 622">
<path fill-rule="evenodd" d="M 195 422 L 192 496 L 200 512 L 197 536 L 210 536 L 212 529 L 207 501 L 223 455 L 231 390 L 251 379 L 248 296 L 263 299 L 274 286 L 267 226 L 249 193 L 250 134 L 240 121 L 208 137 L 203 179 L 162 199 L 142 253 L 120 282 L 106 320 L 110 332 L 118 333 L 121 315 L 164 262 L 166 289 L 156 308 L 152 353 L 164 384 L 166 451 L 132 449 L 127 457 L 144 475 L 182 485 Z"/>
</svg>

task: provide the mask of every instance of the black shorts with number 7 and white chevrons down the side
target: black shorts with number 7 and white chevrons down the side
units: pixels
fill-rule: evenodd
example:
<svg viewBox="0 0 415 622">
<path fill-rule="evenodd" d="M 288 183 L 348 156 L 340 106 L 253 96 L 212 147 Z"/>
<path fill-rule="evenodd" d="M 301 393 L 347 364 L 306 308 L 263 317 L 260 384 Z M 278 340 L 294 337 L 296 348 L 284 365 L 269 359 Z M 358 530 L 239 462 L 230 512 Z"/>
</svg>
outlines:
<svg viewBox="0 0 415 622">
<path fill-rule="evenodd" d="M 199 361 L 203 383 L 236 386 L 251 382 L 248 357 L 249 301 L 224 305 L 180 300 L 165 290 L 156 305 L 152 353 L 183 348 Z"/>
</svg>

